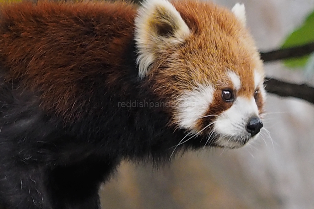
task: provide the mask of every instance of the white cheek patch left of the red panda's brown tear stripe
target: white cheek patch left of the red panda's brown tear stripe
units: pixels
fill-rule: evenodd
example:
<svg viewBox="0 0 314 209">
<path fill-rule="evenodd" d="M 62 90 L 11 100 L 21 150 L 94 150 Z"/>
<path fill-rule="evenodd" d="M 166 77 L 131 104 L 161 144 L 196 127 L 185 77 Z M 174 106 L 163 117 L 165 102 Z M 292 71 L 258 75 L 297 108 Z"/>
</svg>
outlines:
<svg viewBox="0 0 314 209">
<path fill-rule="evenodd" d="M 193 130 L 197 120 L 205 115 L 213 102 L 214 88 L 211 85 L 199 85 L 192 91 L 186 91 L 177 102 L 176 110 L 179 127 Z"/>
</svg>

